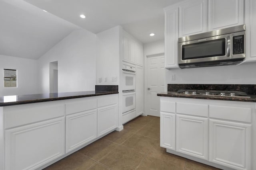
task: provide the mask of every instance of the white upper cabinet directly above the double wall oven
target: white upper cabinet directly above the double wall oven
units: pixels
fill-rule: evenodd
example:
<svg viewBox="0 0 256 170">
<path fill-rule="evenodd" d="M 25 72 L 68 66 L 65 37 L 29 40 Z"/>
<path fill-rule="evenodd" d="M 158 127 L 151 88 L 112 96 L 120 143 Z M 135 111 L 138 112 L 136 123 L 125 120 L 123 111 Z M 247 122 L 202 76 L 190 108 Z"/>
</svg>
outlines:
<svg viewBox="0 0 256 170">
<path fill-rule="evenodd" d="M 143 66 L 143 46 L 123 31 L 123 61 Z"/>
</svg>

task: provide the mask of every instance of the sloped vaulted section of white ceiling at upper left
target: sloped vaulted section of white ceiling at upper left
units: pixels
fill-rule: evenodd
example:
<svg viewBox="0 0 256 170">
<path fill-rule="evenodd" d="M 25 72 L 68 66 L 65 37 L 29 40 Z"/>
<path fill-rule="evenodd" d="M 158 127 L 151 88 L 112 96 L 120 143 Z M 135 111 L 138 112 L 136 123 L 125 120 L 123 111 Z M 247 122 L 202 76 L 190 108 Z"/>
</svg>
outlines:
<svg viewBox="0 0 256 170">
<path fill-rule="evenodd" d="M 38 59 L 75 29 L 22 0 L 0 0 L 0 55 Z"/>
</svg>

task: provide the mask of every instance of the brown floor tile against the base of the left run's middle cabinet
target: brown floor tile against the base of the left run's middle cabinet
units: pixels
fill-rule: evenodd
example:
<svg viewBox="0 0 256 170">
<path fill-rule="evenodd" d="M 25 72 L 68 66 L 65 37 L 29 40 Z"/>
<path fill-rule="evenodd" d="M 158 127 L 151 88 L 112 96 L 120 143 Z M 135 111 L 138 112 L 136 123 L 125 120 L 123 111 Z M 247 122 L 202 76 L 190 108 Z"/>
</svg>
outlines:
<svg viewBox="0 0 256 170">
<path fill-rule="evenodd" d="M 98 141 L 95 141 L 94 143 L 91 143 L 90 145 L 78 150 L 78 152 L 98 161 L 117 146 L 118 144 L 111 141 L 99 139 Z"/>
</svg>

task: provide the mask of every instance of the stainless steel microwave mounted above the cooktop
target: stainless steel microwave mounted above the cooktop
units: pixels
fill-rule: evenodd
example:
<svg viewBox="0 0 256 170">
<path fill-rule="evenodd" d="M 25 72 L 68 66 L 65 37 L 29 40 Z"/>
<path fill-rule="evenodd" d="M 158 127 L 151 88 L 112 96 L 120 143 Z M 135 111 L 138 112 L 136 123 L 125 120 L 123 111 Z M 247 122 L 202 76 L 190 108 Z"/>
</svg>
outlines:
<svg viewBox="0 0 256 170">
<path fill-rule="evenodd" d="M 245 58 L 245 25 L 178 39 L 180 68 L 234 65 Z"/>
</svg>

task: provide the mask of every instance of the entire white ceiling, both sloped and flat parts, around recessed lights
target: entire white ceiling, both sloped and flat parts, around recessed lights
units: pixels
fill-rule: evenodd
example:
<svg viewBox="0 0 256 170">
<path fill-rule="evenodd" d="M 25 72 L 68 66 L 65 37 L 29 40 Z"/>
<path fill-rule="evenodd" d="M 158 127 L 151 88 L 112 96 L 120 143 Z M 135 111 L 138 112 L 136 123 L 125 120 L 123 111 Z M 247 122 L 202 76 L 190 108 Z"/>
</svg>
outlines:
<svg viewBox="0 0 256 170">
<path fill-rule="evenodd" d="M 82 28 L 99 33 L 121 25 L 142 43 L 162 40 L 163 8 L 178 1 L 0 0 L 0 55 L 38 59 Z M 154 37 L 149 36 L 152 32 Z"/>
</svg>

